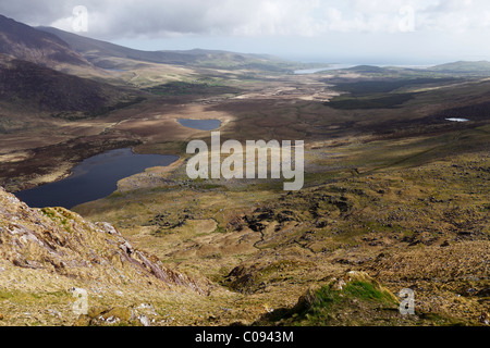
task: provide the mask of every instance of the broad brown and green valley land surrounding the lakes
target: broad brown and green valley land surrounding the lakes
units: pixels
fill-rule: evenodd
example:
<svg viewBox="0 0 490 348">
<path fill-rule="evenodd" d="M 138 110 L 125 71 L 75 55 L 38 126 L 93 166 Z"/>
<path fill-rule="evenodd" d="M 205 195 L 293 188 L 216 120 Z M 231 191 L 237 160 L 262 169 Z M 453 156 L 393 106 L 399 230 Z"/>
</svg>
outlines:
<svg viewBox="0 0 490 348">
<path fill-rule="evenodd" d="M 485 63 L 294 74 L 319 66 L 58 35 L 83 64 L 0 51 L 0 325 L 488 325 Z M 186 146 L 211 129 L 304 140 L 304 188 L 189 179 Z M 72 212 L 8 194 L 127 148 L 177 160 Z M 397 310 L 406 288 L 415 315 Z"/>
</svg>

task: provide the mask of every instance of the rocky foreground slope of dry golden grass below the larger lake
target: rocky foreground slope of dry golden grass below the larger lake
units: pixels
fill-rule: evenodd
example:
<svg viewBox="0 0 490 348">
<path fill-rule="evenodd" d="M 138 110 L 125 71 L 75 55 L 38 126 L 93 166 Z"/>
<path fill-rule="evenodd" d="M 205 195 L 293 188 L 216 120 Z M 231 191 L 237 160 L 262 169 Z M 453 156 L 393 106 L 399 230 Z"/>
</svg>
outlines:
<svg viewBox="0 0 490 348">
<path fill-rule="evenodd" d="M 90 223 L 61 208 L 30 209 L 0 188 L 0 321 L 73 324 L 79 313 L 70 291 L 76 289 L 89 296 L 88 314 L 100 316 L 111 307 L 96 303 L 121 307 L 151 296 L 207 294 L 206 285 L 133 248 L 108 223 Z M 26 319 L 19 312 L 24 306 L 37 314 Z M 136 310 L 117 308 L 110 316 L 127 322 Z M 99 314 L 95 320 L 103 321 Z"/>
</svg>

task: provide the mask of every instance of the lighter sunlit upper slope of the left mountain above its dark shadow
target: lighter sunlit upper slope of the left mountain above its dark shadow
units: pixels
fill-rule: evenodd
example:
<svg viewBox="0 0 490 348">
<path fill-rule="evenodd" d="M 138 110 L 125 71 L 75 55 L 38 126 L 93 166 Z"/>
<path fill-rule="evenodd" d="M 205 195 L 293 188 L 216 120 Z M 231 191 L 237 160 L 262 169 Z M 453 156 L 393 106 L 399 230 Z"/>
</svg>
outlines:
<svg viewBox="0 0 490 348">
<path fill-rule="evenodd" d="M 90 66 L 58 36 L 0 15 L 0 53 L 48 67 Z"/>
</svg>

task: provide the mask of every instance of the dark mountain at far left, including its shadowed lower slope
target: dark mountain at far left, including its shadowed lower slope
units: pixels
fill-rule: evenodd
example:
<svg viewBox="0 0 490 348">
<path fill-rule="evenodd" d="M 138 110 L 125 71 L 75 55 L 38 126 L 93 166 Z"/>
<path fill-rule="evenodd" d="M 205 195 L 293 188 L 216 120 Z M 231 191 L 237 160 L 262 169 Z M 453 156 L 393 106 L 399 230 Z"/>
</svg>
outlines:
<svg viewBox="0 0 490 348">
<path fill-rule="evenodd" d="M 0 15 L 0 102 L 8 109 L 76 120 L 139 100 L 105 74 L 58 36 Z"/>
</svg>

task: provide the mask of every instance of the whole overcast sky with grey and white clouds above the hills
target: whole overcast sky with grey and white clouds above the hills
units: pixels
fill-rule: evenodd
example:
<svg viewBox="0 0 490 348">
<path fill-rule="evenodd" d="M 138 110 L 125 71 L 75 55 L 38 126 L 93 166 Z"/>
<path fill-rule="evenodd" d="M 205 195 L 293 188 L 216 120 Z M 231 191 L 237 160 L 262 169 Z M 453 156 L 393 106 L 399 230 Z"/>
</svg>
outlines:
<svg viewBox="0 0 490 348">
<path fill-rule="evenodd" d="M 378 64 L 490 60 L 488 0 L 0 0 L 0 13 L 145 50 Z"/>
</svg>

